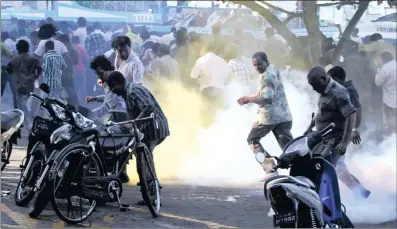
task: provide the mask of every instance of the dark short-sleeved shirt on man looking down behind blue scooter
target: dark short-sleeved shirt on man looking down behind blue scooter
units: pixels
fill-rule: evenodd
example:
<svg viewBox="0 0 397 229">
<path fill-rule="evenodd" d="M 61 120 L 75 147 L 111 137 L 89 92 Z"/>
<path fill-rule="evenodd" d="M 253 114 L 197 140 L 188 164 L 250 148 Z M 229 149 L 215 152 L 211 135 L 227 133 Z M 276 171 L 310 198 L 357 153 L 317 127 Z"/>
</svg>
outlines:
<svg viewBox="0 0 397 229">
<path fill-rule="evenodd" d="M 317 130 L 322 130 L 329 124 L 334 123 L 335 128 L 326 138 L 337 138 L 340 141 L 343 137 L 347 117 L 356 112 L 350 102 L 347 89 L 330 79 L 327 89 L 318 99 L 318 111 L 315 117 Z"/>
</svg>

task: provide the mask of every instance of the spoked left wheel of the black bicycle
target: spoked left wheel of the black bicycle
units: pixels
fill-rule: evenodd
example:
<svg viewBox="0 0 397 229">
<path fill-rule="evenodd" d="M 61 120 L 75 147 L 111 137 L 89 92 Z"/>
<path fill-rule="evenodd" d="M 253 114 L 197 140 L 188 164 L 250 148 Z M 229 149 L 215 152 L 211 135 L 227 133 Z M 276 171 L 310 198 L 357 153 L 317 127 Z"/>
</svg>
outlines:
<svg viewBox="0 0 397 229">
<path fill-rule="evenodd" d="M 60 158 L 51 180 L 51 204 L 57 216 L 68 224 L 77 224 L 86 220 L 96 207 L 96 201 L 81 196 L 81 179 L 84 176 L 100 176 L 99 159 L 82 145 L 68 148 L 68 152 Z"/>
</svg>

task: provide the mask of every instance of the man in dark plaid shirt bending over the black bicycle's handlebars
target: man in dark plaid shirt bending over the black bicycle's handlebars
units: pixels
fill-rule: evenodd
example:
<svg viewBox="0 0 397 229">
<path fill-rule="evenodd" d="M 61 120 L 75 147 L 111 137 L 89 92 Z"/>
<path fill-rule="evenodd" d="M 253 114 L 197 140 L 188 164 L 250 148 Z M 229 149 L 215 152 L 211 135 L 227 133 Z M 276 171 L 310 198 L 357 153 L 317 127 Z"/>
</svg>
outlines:
<svg viewBox="0 0 397 229">
<path fill-rule="evenodd" d="M 139 130 L 144 134 L 143 142 L 153 153 L 154 148 L 170 135 L 170 131 L 167 118 L 152 93 L 139 84 L 127 83 L 123 74 L 118 71 L 110 73 L 104 81 L 108 84 L 110 91 L 124 98 L 127 113 L 132 119 L 146 118 L 154 113 L 158 128 L 154 121 L 147 121 L 138 125 Z M 139 204 L 145 203 L 139 202 Z"/>
</svg>

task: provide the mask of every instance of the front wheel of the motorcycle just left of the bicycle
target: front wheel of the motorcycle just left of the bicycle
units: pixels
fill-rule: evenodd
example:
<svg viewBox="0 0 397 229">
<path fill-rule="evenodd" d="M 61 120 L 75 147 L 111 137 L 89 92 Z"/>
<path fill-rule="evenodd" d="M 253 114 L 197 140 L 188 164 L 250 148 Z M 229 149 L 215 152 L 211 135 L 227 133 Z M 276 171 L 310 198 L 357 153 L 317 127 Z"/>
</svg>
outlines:
<svg viewBox="0 0 397 229">
<path fill-rule="evenodd" d="M 15 190 L 15 204 L 20 207 L 26 206 L 34 197 L 34 185 L 36 184 L 37 179 L 40 177 L 43 169 L 44 160 L 42 158 L 33 160 L 34 161 L 32 162 L 31 166 L 29 168 L 25 168 L 29 169 L 27 177 L 24 181 L 22 181 L 22 177 L 19 179 L 18 186 Z"/>
</svg>

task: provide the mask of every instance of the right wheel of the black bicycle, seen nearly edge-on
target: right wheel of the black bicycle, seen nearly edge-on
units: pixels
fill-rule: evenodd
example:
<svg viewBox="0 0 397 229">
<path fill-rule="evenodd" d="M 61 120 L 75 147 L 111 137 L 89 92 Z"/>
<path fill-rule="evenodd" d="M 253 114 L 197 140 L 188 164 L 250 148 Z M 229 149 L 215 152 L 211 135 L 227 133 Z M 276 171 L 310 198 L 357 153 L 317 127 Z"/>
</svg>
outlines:
<svg viewBox="0 0 397 229">
<path fill-rule="evenodd" d="M 136 154 L 137 170 L 141 184 L 143 200 L 153 217 L 158 217 L 161 206 L 160 183 L 157 179 L 152 153 L 142 143 Z"/>
</svg>

